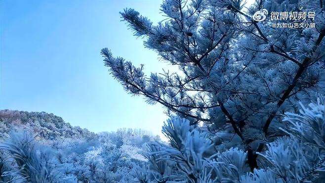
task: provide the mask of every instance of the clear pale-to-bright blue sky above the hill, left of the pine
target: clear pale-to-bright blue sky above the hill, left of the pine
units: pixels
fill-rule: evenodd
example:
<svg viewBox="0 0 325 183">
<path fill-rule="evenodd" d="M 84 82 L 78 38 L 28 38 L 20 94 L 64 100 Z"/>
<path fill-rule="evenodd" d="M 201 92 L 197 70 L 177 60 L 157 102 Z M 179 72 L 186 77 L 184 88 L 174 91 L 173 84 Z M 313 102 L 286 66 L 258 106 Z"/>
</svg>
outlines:
<svg viewBox="0 0 325 183">
<path fill-rule="evenodd" d="M 93 132 L 160 134 L 162 106 L 123 91 L 103 66 L 108 47 L 146 73 L 166 66 L 121 22 L 131 7 L 162 20 L 159 0 L 1 0 L 0 109 L 45 111 Z"/>
</svg>

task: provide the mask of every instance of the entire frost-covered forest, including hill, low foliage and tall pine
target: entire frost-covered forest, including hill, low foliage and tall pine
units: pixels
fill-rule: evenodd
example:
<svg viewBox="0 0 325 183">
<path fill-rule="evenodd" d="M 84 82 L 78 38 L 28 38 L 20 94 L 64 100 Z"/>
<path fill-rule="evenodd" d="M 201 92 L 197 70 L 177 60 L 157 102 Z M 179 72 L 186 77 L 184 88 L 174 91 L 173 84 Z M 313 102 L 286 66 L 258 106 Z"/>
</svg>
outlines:
<svg viewBox="0 0 325 183">
<path fill-rule="evenodd" d="M 274 27 L 271 12 L 315 26 Z M 101 54 L 126 92 L 164 107 L 167 142 L 2 110 L 0 182 L 324 183 L 325 1 L 164 0 L 161 13 L 157 23 L 132 8 L 120 14 L 178 71 L 147 76 L 145 65 Z"/>
</svg>

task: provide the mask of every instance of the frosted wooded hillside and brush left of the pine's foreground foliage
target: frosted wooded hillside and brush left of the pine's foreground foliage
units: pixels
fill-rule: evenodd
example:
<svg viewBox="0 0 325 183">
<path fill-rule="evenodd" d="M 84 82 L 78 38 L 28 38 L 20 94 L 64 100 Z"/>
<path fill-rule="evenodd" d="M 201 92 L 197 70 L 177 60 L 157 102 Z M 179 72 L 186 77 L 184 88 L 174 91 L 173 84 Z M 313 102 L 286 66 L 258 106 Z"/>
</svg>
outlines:
<svg viewBox="0 0 325 183">
<path fill-rule="evenodd" d="M 142 130 L 95 134 L 46 112 L 0 111 L 0 183 L 135 182 L 147 164 Z"/>
</svg>

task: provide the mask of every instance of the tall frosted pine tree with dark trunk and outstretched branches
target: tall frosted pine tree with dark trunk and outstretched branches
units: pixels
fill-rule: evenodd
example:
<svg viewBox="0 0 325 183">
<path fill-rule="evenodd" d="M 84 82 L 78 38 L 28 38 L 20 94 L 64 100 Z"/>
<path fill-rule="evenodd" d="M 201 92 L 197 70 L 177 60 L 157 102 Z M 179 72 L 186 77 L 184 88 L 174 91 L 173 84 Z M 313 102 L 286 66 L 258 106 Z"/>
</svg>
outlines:
<svg viewBox="0 0 325 183">
<path fill-rule="evenodd" d="M 253 20 L 252 15 L 263 9 L 315 12 L 314 19 L 308 21 L 316 26 L 273 28 L 270 16 L 261 22 Z M 193 128 L 204 133 L 184 135 L 186 140 L 195 136 L 209 139 L 214 151 L 206 152 L 210 151 L 209 145 L 203 143 L 204 161 L 213 160 L 207 154 L 227 154 L 235 149 L 244 157 L 248 170 L 264 166 L 267 156 L 258 154 L 271 147 L 266 145 L 269 142 L 287 136 L 281 130 L 284 112 L 298 112 L 298 101 L 308 103 L 316 99 L 316 92 L 323 92 L 324 1 L 257 0 L 245 9 L 241 0 L 165 0 L 161 11 L 166 18 L 158 24 L 134 9 L 124 9 L 121 15 L 134 35 L 145 40 L 148 49 L 178 67 L 179 72 L 164 70 L 145 76 L 143 65 L 136 67 L 122 57 L 114 57 L 107 48 L 101 51 L 105 66 L 126 91 L 145 96 L 148 103 L 162 104 L 170 116 L 186 118 Z M 179 137 L 173 133 L 167 137 L 171 138 L 171 148 L 176 148 L 177 143 L 185 145 L 184 139 L 175 141 Z M 187 153 L 185 149 L 179 147 L 178 151 Z M 188 169 L 178 171 L 194 182 L 206 179 L 203 175 L 208 172 L 196 173 L 193 157 L 188 160 Z M 206 171 L 217 166 L 207 164 L 210 168 Z M 225 171 L 220 175 L 231 171 L 219 170 Z M 254 172 L 253 176 L 262 173 L 270 172 Z M 170 176 L 163 173 L 159 179 Z"/>
</svg>

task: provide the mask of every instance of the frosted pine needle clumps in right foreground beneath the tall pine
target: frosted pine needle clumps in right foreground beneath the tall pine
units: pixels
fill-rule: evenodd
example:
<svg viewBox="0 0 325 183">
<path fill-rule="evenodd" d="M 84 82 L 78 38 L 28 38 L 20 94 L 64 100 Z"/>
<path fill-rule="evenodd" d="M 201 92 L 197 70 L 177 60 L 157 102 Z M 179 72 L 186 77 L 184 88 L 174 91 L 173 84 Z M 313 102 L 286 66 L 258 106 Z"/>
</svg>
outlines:
<svg viewBox="0 0 325 183">
<path fill-rule="evenodd" d="M 224 151 L 213 148 L 206 132 L 198 127 L 189 128 L 190 122 L 179 117 L 168 120 L 163 127 L 163 132 L 168 131 L 165 135 L 169 145 L 156 142 L 148 146 L 145 156 L 151 165 L 142 172 L 146 173 L 147 182 L 151 178 L 153 182 L 322 183 L 325 146 L 301 137 L 306 130 L 309 130 L 309 136 L 310 133 L 317 134 L 319 126 L 325 125 L 324 98 L 309 106 L 303 107 L 299 114 L 286 114 L 284 123 L 290 121 L 286 131 L 288 136 L 267 143 L 267 150 L 257 152 L 259 168 L 253 172 L 250 172 L 247 152 L 237 147 Z M 297 131 L 293 121 L 294 126 L 312 125 Z M 149 178 L 148 173 L 151 173 Z"/>
</svg>

